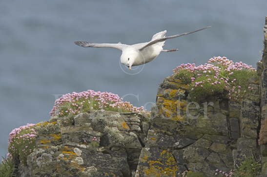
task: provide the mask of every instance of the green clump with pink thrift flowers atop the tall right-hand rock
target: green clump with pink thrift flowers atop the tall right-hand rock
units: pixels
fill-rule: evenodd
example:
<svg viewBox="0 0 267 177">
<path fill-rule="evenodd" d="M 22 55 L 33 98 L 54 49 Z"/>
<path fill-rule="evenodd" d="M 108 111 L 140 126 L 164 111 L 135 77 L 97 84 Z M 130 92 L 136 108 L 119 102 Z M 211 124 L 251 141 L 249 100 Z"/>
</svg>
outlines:
<svg viewBox="0 0 267 177">
<path fill-rule="evenodd" d="M 209 96 L 226 96 L 241 101 L 252 90 L 248 79 L 257 78 L 256 70 L 243 62 L 234 63 L 226 57 L 213 57 L 204 65 L 181 64 L 174 70 L 174 77 L 188 85 L 190 97 L 203 101 Z"/>
</svg>

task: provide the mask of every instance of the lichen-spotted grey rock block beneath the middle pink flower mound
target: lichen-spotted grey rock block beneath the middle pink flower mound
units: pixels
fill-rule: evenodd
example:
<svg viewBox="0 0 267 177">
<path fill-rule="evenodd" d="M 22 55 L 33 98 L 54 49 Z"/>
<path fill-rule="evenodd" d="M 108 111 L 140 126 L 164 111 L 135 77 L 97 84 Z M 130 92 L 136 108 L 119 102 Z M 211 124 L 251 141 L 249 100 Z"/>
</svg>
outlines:
<svg viewBox="0 0 267 177">
<path fill-rule="evenodd" d="M 144 143 L 141 139 L 146 137 L 142 115 L 96 111 L 68 121 L 72 123 L 51 123 L 59 128 L 58 134 L 39 127 L 44 134 L 18 176 L 131 177 Z"/>
</svg>

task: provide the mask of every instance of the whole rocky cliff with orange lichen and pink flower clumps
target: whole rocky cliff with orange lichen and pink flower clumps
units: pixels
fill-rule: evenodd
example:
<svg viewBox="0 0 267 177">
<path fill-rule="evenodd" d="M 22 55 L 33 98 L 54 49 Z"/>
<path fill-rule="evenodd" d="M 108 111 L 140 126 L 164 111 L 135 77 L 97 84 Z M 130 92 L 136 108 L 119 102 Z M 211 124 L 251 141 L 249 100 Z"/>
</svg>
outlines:
<svg viewBox="0 0 267 177">
<path fill-rule="evenodd" d="M 181 65 L 160 84 L 151 113 L 107 93 L 66 95 L 49 121 L 10 134 L 14 175 L 267 177 L 267 18 L 264 35 L 257 71 L 221 57 Z"/>
</svg>

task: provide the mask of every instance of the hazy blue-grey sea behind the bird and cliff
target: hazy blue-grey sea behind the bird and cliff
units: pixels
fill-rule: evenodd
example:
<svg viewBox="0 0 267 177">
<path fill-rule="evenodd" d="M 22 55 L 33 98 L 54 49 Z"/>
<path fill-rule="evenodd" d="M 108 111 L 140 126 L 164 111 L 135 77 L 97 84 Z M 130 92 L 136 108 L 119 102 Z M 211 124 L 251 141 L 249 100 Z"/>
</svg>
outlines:
<svg viewBox="0 0 267 177">
<path fill-rule="evenodd" d="M 0 156 L 8 134 L 50 118 L 55 97 L 84 90 L 108 91 L 147 109 L 159 84 L 182 63 L 213 56 L 256 66 L 263 49 L 266 0 L 1 0 Z M 162 53 L 129 72 L 121 52 L 82 48 L 75 40 L 134 44 L 212 27 L 165 42 Z"/>
</svg>

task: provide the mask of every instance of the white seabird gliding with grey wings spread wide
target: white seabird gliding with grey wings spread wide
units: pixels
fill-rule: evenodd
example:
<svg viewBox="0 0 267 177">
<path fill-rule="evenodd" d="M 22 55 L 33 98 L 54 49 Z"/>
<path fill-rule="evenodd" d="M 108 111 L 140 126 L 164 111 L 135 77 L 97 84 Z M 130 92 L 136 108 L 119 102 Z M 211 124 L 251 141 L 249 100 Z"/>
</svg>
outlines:
<svg viewBox="0 0 267 177">
<path fill-rule="evenodd" d="M 127 45 L 122 43 L 92 43 L 86 41 L 75 41 L 74 43 L 82 47 L 110 47 L 116 48 L 122 51 L 121 63 L 128 67 L 129 70 L 132 69 L 132 66 L 138 66 L 147 62 L 152 61 L 161 52 L 175 52 L 179 49 L 173 50 L 164 50 L 164 42 L 166 39 L 178 38 L 180 36 L 189 35 L 211 26 L 198 29 L 196 31 L 182 33 L 179 35 L 165 36 L 166 30 L 155 34 L 149 42 L 137 43 L 133 45 Z"/>
</svg>

